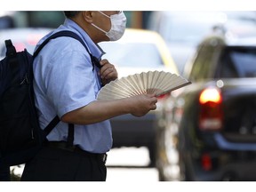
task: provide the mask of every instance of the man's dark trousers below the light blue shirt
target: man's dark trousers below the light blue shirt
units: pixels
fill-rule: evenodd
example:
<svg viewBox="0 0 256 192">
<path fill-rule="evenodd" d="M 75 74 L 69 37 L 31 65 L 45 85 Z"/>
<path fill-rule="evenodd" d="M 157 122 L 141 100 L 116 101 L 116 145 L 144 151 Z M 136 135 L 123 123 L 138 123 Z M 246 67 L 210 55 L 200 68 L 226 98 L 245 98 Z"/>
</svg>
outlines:
<svg viewBox="0 0 256 192">
<path fill-rule="evenodd" d="M 24 168 L 21 181 L 105 181 L 107 168 L 98 156 L 45 146 Z"/>
</svg>

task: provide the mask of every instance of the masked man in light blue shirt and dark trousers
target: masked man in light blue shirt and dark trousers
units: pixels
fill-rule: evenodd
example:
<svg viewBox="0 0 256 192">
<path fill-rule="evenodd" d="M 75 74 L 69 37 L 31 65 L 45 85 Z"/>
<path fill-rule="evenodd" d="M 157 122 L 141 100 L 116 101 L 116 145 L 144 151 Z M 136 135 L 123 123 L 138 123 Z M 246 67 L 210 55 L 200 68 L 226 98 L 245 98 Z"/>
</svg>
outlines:
<svg viewBox="0 0 256 192">
<path fill-rule="evenodd" d="M 75 32 L 101 67 L 93 66 L 84 46 L 67 36 L 51 40 L 36 57 L 34 88 L 40 126 L 44 128 L 56 115 L 60 123 L 47 136 L 44 148 L 26 164 L 21 180 L 106 180 L 106 153 L 112 147 L 108 119 L 123 114 L 144 116 L 156 109 L 154 95 L 96 100 L 100 87 L 117 78 L 115 66 L 100 60 L 104 52 L 97 44 L 123 36 L 124 12 L 65 15 L 64 24 L 52 33 L 67 29 Z M 72 148 L 66 148 L 68 124 L 75 124 Z"/>
</svg>

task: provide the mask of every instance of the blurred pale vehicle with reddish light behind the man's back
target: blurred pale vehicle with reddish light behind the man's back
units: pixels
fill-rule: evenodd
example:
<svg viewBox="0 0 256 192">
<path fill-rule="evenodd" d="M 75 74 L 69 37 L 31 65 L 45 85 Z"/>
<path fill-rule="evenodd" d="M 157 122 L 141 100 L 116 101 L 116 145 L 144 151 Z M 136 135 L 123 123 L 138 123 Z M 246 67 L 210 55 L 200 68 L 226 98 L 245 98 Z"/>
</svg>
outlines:
<svg viewBox="0 0 256 192">
<path fill-rule="evenodd" d="M 0 30 L 0 60 L 5 57 L 6 39 L 11 39 L 16 51 L 23 51 L 25 48 L 30 54 L 33 54 L 37 42 L 52 28 L 8 28 Z"/>
</svg>

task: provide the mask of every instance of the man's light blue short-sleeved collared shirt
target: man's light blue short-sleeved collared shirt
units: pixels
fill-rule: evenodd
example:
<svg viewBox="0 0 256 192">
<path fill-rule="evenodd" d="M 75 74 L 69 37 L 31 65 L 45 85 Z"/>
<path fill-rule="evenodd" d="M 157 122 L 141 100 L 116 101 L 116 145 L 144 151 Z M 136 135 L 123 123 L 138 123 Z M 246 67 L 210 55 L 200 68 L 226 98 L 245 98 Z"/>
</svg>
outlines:
<svg viewBox="0 0 256 192">
<path fill-rule="evenodd" d="M 104 52 L 74 21 L 66 19 L 64 24 L 52 33 L 67 29 L 81 36 L 92 55 L 101 58 Z M 52 33 L 44 36 L 38 44 Z M 41 128 L 49 124 L 54 116 L 63 116 L 96 100 L 100 90 L 99 68 L 95 66 L 92 70 L 88 52 L 83 44 L 74 38 L 61 36 L 52 39 L 39 52 L 33 69 L 36 108 Z M 67 136 L 68 124 L 60 122 L 47 139 L 67 140 Z M 74 144 L 93 153 L 107 152 L 112 147 L 110 122 L 107 120 L 97 124 L 75 124 Z"/>
</svg>

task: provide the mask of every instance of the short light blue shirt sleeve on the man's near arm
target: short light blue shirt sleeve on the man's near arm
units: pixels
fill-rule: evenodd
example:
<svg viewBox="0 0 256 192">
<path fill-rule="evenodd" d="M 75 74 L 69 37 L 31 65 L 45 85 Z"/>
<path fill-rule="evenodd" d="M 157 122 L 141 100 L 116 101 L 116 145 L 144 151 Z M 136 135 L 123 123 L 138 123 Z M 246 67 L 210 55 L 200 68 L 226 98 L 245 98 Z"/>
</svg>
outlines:
<svg viewBox="0 0 256 192">
<path fill-rule="evenodd" d="M 95 100 L 97 74 L 92 70 L 90 56 L 85 50 L 64 49 L 56 55 L 45 70 L 44 82 L 47 97 L 58 116 L 63 116 Z"/>
</svg>

